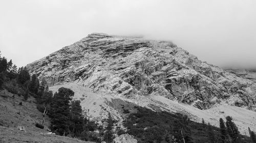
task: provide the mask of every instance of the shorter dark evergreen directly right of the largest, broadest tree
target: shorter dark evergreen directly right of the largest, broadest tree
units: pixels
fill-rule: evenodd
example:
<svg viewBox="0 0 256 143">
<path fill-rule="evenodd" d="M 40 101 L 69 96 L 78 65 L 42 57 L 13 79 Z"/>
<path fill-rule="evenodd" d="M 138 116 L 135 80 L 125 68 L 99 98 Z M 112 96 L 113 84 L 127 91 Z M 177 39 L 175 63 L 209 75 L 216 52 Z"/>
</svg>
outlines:
<svg viewBox="0 0 256 143">
<path fill-rule="evenodd" d="M 72 136 L 79 137 L 83 131 L 82 107 L 79 100 L 71 102 L 70 131 Z"/>
</svg>

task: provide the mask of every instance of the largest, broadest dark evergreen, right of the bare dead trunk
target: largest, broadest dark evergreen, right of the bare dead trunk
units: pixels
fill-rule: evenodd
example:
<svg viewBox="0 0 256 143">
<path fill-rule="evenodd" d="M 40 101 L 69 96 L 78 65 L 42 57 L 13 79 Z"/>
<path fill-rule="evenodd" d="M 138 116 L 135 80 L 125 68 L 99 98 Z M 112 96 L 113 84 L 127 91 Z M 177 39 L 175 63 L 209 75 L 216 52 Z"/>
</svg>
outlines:
<svg viewBox="0 0 256 143">
<path fill-rule="evenodd" d="M 58 89 L 53 96 L 49 116 L 51 117 L 51 130 L 58 135 L 69 133 L 70 101 L 74 92 L 67 88 Z"/>
</svg>

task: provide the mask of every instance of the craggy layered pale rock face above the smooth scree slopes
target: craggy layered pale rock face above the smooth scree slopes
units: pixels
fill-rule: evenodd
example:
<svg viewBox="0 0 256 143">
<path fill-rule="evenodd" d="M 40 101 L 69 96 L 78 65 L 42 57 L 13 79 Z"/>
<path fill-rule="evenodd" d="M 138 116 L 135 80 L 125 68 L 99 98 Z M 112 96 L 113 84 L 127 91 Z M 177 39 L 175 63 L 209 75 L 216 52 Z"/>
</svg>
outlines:
<svg viewBox="0 0 256 143">
<path fill-rule="evenodd" d="M 256 109 L 255 82 L 168 41 L 94 33 L 27 68 L 50 86 L 74 81 L 127 99 L 160 95 L 199 109 L 221 102 Z"/>
</svg>

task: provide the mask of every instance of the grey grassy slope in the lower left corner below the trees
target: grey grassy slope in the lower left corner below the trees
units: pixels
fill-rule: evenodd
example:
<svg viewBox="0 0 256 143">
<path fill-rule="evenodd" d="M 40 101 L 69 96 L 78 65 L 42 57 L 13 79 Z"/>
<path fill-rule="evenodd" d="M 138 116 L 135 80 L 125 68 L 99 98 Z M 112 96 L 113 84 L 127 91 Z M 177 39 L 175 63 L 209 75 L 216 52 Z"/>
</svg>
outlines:
<svg viewBox="0 0 256 143">
<path fill-rule="evenodd" d="M 0 91 L 0 142 L 86 142 L 58 135 L 48 135 L 50 119 L 46 117 L 45 129 L 35 127 L 41 122 L 41 113 L 36 109 L 35 99 L 30 97 L 26 102 L 23 96 L 18 97 L 7 91 Z M 31 103 L 30 103 L 31 101 Z M 22 106 L 18 105 L 22 102 Z M 26 131 L 18 131 L 17 126 L 25 126 Z"/>
</svg>

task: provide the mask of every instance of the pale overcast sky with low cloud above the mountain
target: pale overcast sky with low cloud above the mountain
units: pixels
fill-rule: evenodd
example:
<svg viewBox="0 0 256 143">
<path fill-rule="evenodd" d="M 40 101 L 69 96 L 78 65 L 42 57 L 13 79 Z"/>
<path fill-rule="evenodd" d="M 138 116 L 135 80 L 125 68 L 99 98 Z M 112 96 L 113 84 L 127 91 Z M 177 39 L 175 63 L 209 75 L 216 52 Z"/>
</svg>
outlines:
<svg viewBox="0 0 256 143">
<path fill-rule="evenodd" d="M 0 50 L 20 67 L 88 34 L 170 40 L 221 67 L 256 68 L 256 1 L 0 1 Z"/>
</svg>

